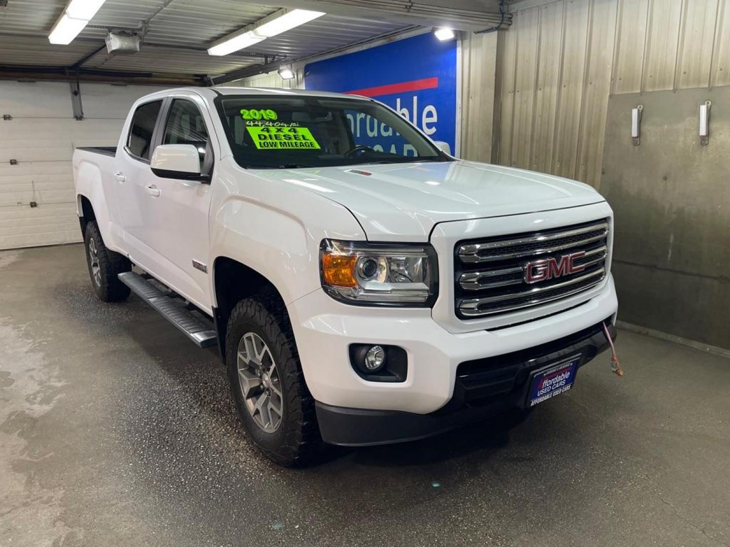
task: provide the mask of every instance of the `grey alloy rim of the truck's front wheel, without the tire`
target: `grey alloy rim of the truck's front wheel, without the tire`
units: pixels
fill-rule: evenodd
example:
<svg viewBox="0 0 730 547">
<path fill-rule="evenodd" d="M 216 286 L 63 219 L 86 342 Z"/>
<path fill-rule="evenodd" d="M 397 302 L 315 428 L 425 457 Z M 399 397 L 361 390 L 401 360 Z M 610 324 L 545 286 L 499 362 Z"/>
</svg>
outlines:
<svg viewBox="0 0 730 547">
<path fill-rule="evenodd" d="M 281 381 L 274 356 L 261 336 L 242 336 L 237 368 L 241 395 L 253 422 L 265 432 L 276 431 L 284 413 Z"/>
</svg>

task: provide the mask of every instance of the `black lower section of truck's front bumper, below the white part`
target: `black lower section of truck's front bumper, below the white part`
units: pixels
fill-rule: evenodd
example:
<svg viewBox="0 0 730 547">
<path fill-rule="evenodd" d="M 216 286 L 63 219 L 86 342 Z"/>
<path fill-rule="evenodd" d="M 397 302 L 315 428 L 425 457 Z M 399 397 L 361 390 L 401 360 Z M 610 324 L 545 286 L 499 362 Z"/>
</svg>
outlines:
<svg viewBox="0 0 730 547">
<path fill-rule="evenodd" d="M 613 325 L 609 331 L 615 339 Z M 598 323 L 548 344 L 464 362 L 458 367 L 452 399 L 430 414 L 344 408 L 318 402 L 320 432 L 324 441 L 341 446 L 399 443 L 438 435 L 500 411 L 522 407 L 531 371 L 577 354 L 581 356 L 580 368 L 608 346 L 602 323 Z"/>
</svg>

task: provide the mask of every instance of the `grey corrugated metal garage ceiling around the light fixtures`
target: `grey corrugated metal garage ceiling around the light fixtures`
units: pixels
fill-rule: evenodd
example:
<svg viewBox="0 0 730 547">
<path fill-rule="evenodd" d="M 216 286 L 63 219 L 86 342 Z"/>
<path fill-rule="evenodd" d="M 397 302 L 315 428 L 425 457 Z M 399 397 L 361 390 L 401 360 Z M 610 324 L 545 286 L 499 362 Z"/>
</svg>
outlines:
<svg viewBox="0 0 730 547">
<path fill-rule="evenodd" d="M 482 7 L 486 9 L 493 8 L 490 2 L 496 0 L 484 1 Z M 207 54 L 211 42 L 297 2 L 283 0 L 282 5 L 269 5 L 267 0 L 262 4 L 240 0 L 107 0 L 81 34 L 64 46 L 50 44 L 47 34 L 63 12 L 66 0 L 7 0 L 7 5 L 0 2 L 0 78 L 74 78 L 81 74 L 85 79 L 121 78 L 150 83 L 205 83 L 210 77 L 226 81 L 422 25 L 423 15 L 410 20 L 404 15 L 407 9 L 400 13 L 402 3 L 378 1 L 374 3 L 380 6 L 378 9 L 386 8 L 379 12 L 372 9 L 372 2 L 320 1 L 316 7 L 327 12 L 322 18 L 237 53 L 214 57 Z M 368 5 L 368 9 L 353 4 Z M 469 13 L 473 10 L 461 9 L 458 15 L 463 18 Z M 484 15 L 483 24 L 496 17 L 495 12 Z M 114 29 L 140 34 L 142 51 L 109 55 L 104 36 Z"/>
</svg>

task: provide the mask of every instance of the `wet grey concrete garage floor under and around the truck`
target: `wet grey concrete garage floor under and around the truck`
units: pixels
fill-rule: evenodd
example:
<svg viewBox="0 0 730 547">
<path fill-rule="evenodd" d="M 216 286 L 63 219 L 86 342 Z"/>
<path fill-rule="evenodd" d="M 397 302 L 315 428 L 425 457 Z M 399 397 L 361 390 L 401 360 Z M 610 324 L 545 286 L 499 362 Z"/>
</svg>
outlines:
<svg viewBox="0 0 730 547">
<path fill-rule="evenodd" d="M 0 252 L 0 545 L 730 544 L 730 360 L 618 351 L 511 429 L 283 470 L 215 352 L 96 300 L 80 245 Z"/>
</svg>

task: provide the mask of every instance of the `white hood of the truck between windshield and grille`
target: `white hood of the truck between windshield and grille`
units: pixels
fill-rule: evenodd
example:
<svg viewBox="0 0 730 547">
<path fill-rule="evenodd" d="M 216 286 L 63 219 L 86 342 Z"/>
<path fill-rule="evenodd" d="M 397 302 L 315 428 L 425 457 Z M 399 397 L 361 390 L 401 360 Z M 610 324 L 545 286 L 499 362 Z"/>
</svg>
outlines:
<svg viewBox="0 0 730 547">
<path fill-rule="evenodd" d="M 569 179 L 472 161 L 258 171 L 350 209 L 370 241 L 428 241 L 439 222 L 604 201 Z"/>
</svg>

